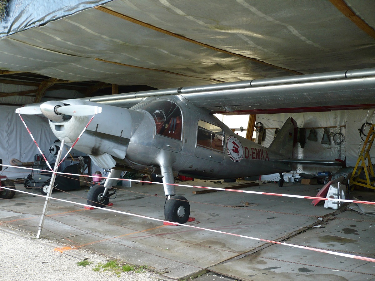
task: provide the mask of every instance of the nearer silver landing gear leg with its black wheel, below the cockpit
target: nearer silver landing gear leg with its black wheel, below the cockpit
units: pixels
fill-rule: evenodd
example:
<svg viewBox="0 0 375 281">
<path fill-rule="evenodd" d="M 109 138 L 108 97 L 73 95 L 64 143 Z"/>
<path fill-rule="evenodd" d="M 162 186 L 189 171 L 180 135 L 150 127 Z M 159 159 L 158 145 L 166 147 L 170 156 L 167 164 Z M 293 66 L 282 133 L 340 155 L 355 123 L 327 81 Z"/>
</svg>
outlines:
<svg viewBox="0 0 375 281">
<path fill-rule="evenodd" d="M 167 196 L 164 216 L 165 220 L 176 223 L 186 223 L 190 215 L 190 204 L 184 196 L 175 195 L 172 168 L 169 166 L 160 166 L 160 170 L 163 176 L 164 193 Z"/>
</svg>

